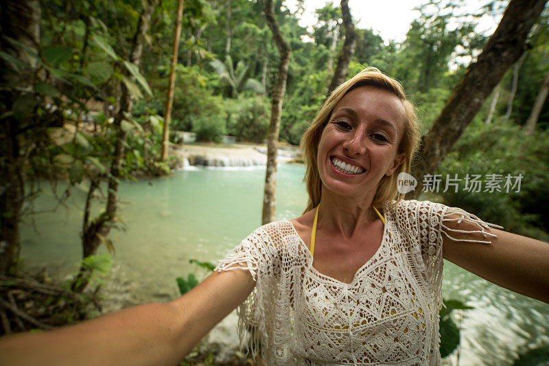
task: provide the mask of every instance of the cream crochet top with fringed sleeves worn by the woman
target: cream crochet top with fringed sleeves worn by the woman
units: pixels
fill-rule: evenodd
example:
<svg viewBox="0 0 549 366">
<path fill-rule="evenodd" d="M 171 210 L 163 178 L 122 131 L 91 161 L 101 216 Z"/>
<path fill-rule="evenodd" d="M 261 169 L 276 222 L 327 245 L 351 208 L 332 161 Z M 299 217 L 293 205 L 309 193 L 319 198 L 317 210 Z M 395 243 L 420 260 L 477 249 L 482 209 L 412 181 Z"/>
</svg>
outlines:
<svg viewBox="0 0 549 366">
<path fill-rule="evenodd" d="M 267 365 L 440 364 L 445 223 L 474 222 L 471 242 L 489 242 L 489 224 L 428 201 L 399 201 L 384 216 L 382 243 L 350 284 L 316 271 L 290 221 L 259 227 L 220 260 L 216 271 L 244 268 L 256 281 L 238 309 L 253 354 Z"/>
</svg>

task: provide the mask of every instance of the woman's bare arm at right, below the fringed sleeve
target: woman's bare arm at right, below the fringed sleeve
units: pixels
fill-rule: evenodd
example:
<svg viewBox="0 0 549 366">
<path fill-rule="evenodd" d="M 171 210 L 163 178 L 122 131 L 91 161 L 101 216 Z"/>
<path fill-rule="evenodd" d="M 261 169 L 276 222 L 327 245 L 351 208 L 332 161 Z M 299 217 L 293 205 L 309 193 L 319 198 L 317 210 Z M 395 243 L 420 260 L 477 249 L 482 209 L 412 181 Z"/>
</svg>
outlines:
<svg viewBox="0 0 549 366">
<path fill-rule="evenodd" d="M 446 225 L 469 232 L 478 230 L 465 220 Z M 460 242 L 443 235 L 443 258 L 494 284 L 549 303 L 549 244 L 498 229 L 487 231 L 495 234 L 490 244 Z M 478 233 L 452 236 L 479 239 Z"/>
</svg>

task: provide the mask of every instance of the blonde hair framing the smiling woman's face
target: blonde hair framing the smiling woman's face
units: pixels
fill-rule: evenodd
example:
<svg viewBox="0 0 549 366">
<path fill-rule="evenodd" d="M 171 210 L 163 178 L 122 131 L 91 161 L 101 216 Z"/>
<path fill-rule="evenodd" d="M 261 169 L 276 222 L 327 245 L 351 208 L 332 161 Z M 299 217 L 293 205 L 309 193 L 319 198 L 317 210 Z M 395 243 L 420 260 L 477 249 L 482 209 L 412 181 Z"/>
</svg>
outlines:
<svg viewBox="0 0 549 366">
<path fill-rule="evenodd" d="M 393 200 L 398 201 L 404 197 L 404 194 L 399 194 L 397 190 L 397 176 L 401 172 L 410 172 L 412 156 L 419 141 L 419 128 L 414 106 L 406 99 L 406 94 L 400 82 L 390 78 L 375 67 L 366 67 L 353 76 L 353 78 L 337 87 L 329 95 L 322 108 L 320 108 L 318 115 L 316 115 L 312 124 L 307 128 L 303 137 L 301 137 L 301 150 L 306 166 L 303 181 L 305 181 L 307 193 L 309 194 L 309 203 L 307 203 L 305 212 L 316 207 L 320 203 L 320 196 L 322 196 L 322 182 L 318 174 L 316 155 L 323 130 L 329 121 L 332 111 L 334 111 L 334 107 L 344 95 L 355 88 L 364 86 L 372 86 L 389 91 L 396 95 L 404 106 L 404 134 L 399 144 L 399 153 L 404 152 L 406 156 L 404 162 L 399 165 L 392 175 L 384 176 L 379 181 L 372 204 L 381 208 Z"/>
</svg>

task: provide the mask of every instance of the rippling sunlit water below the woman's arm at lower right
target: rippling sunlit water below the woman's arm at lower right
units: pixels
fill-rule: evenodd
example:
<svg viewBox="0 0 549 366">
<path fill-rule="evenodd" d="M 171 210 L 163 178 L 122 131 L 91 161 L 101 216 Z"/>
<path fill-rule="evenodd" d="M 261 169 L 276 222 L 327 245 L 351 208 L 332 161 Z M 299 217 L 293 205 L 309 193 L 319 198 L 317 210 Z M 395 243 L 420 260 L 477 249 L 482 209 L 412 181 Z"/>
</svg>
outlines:
<svg viewBox="0 0 549 366">
<path fill-rule="evenodd" d="M 513 293 L 445 261 L 444 297 L 465 301 L 460 365 L 512 365 L 519 352 L 549 345 L 549 305 Z M 452 359 L 455 365 L 457 355 Z"/>
</svg>

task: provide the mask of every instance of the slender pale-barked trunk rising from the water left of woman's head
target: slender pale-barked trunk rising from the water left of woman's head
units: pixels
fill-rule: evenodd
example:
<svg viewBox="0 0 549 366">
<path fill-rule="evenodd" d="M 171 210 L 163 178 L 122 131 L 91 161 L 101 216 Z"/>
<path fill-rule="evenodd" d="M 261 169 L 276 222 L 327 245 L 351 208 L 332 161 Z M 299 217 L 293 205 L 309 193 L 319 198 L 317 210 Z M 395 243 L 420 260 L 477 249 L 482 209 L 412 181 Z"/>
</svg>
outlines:
<svg viewBox="0 0 549 366">
<path fill-rule="evenodd" d="M 277 45 L 280 54 L 279 73 L 277 85 L 272 94 L 272 105 L 270 110 L 270 122 L 267 141 L 267 172 L 265 176 L 265 192 L 263 198 L 263 224 L 274 221 L 276 212 L 275 194 L 277 192 L 277 150 L 279 143 L 280 117 L 282 113 L 282 102 L 286 91 L 286 80 L 288 80 L 288 66 L 290 65 L 290 54 L 292 50 L 284 41 L 279 25 L 274 19 L 274 5 L 272 0 L 266 0 L 264 11 L 267 24 L 272 32 L 272 38 Z"/>
</svg>

